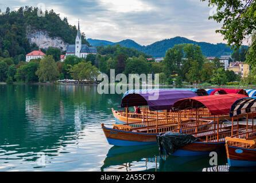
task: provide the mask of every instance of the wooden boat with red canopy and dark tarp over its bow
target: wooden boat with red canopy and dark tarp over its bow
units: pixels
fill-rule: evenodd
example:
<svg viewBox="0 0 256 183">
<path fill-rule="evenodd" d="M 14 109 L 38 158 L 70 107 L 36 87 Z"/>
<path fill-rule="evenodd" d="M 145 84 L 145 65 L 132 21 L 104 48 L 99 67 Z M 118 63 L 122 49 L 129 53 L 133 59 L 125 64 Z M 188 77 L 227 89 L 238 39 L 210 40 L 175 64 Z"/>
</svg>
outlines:
<svg viewBox="0 0 256 183">
<path fill-rule="evenodd" d="M 197 109 L 197 108 L 208 108 L 212 115 L 226 114 L 230 111 L 231 105 L 238 99 L 246 96 L 241 94 L 226 94 L 218 96 L 203 96 L 183 99 L 173 104 L 173 110 L 184 110 L 184 109 Z M 200 125 L 196 126 L 197 128 Z M 195 128 L 195 126 L 193 126 Z M 237 124 L 236 128 L 232 126 L 219 126 L 219 120 L 216 124 L 212 124 L 211 128 L 204 130 L 203 132 L 191 133 L 190 128 L 175 129 L 173 132 L 191 134 L 198 138 L 198 141 L 191 142 L 182 148 L 176 150 L 172 154 L 174 156 L 194 156 L 199 154 L 208 154 L 210 152 L 218 152 L 224 150 L 225 137 L 230 137 L 232 134 L 243 133 L 246 130 L 245 125 Z M 164 149 L 162 145 L 161 136 L 158 136 L 158 145 L 161 149 Z M 166 151 L 166 149 L 164 149 Z"/>
</svg>

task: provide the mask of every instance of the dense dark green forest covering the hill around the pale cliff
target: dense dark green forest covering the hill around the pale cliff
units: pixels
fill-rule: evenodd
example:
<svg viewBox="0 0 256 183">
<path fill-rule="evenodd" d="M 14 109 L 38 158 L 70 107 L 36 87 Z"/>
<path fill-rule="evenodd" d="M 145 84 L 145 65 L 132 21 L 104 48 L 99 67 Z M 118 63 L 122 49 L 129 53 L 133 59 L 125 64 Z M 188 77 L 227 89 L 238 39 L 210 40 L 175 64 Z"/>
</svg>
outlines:
<svg viewBox="0 0 256 183">
<path fill-rule="evenodd" d="M 10 11 L 9 7 L 0 14 L 0 57 L 13 57 L 14 61 L 24 61 L 25 55 L 38 49 L 30 44 L 26 37 L 31 30 L 47 31 L 49 36 L 59 37 L 66 43 L 73 43 L 76 37 L 76 26 L 68 24 L 67 18 L 61 19 L 53 10 L 45 11 L 44 17 L 38 17 L 37 7 L 20 7 Z M 89 43 L 82 35 L 82 42 Z"/>
</svg>

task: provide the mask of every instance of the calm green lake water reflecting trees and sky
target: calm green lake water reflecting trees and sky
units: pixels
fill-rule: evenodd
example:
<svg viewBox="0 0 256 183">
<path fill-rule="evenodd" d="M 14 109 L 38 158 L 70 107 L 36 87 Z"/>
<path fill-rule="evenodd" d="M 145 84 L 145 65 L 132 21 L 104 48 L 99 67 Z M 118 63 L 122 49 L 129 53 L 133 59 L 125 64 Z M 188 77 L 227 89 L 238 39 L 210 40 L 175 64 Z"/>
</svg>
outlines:
<svg viewBox="0 0 256 183">
<path fill-rule="evenodd" d="M 0 85 L 0 171 L 243 171 L 209 156 L 161 159 L 157 145 L 109 145 L 120 94 L 96 86 Z"/>
</svg>

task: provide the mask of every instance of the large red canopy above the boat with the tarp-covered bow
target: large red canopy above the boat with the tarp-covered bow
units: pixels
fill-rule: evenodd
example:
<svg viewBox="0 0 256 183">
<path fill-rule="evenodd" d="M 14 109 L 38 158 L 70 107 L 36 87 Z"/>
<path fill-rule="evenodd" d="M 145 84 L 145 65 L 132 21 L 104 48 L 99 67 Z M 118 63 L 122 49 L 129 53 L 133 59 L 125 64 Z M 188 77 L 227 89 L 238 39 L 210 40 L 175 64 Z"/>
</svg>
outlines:
<svg viewBox="0 0 256 183">
<path fill-rule="evenodd" d="M 225 94 L 214 96 L 201 96 L 184 98 L 175 102 L 172 110 L 199 109 L 207 108 L 212 115 L 227 114 L 230 112 L 231 105 L 240 98 L 247 96 L 242 94 Z"/>
</svg>

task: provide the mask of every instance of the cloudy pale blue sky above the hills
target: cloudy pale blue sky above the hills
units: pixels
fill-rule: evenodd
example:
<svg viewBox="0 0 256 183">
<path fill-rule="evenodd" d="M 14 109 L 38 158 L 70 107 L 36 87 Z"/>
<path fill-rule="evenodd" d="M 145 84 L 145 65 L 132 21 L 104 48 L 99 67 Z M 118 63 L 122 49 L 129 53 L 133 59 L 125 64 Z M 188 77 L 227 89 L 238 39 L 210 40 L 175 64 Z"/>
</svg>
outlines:
<svg viewBox="0 0 256 183">
<path fill-rule="evenodd" d="M 118 42 L 133 39 L 141 45 L 149 45 L 176 36 L 195 41 L 223 42 L 223 36 L 215 30 L 220 24 L 208 20 L 214 7 L 200 0 L 1 0 L 0 9 L 9 6 L 45 6 L 53 9 L 61 18 L 67 17 L 71 25 L 77 25 L 87 38 Z"/>
</svg>

